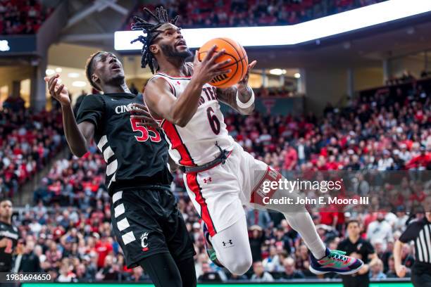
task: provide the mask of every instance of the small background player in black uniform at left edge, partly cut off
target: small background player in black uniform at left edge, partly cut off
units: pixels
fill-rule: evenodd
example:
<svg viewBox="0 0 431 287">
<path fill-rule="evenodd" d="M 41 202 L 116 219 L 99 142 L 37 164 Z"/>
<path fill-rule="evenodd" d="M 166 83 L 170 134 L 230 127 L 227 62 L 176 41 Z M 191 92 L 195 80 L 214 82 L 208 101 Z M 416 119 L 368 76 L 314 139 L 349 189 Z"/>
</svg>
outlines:
<svg viewBox="0 0 431 287">
<path fill-rule="evenodd" d="M 0 201 L 0 272 L 11 272 L 12 254 L 18 243 L 18 229 L 12 226 L 12 202 Z"/>
</svg>

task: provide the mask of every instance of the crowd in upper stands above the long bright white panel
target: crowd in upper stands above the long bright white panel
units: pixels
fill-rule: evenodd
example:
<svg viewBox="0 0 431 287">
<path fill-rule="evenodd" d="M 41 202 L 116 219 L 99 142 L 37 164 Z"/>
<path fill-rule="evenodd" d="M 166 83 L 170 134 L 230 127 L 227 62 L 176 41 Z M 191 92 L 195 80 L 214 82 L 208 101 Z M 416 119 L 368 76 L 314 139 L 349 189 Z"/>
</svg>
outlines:
<svg viewBox="0 0 431 287">
<path fill-rule="evenodd" d="M 163 5 L 170 16 L 180 15 L 180 26 L 239 27 L 293 25 L 385 0 L 165 0 L 158 5 L 143 4 L 130 13 L 125 29 L 130 30 L 133 15 L 146 17 L 142 8 Z"/>
</svg>

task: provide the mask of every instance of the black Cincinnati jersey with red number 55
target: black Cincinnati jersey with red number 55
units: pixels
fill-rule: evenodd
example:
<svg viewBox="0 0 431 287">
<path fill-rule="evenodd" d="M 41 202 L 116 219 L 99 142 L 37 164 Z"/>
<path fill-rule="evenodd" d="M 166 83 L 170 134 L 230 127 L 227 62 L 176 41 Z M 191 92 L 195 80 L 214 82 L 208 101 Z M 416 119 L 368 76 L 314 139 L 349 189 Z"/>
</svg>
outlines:
<svg viewBox="0 0 431 287">
<path fill-rule="evenodd" d="M 77 123 L 92 122 L 94 140 L 106 161 L 109 193 L 148 185 L 168 185 L 168 146 L 152 127 L 139 127 L 130 117 L 132 103 L 143 103 L 142 94 L 85 96 Z"/>
</svg>

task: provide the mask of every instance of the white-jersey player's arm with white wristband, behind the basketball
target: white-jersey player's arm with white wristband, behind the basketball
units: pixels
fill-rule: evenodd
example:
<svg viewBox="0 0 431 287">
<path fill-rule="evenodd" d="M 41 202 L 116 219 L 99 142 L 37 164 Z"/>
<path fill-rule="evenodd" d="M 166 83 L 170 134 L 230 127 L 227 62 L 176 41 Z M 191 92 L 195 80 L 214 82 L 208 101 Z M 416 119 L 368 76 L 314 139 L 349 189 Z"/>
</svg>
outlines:
<svg viewBox="0 0 431 287">
<path fill-rule="evenodd" d="M 251 87 L 249 87 L 249 75 L 250 70 L 254 68 L 256 63 L 256 60 L 249 63 L 246 75 L 236 87 L 217 89 L 218 99 L 242 115 L 250 115 L 254 110 L 254 94 Z"/>
</svg>

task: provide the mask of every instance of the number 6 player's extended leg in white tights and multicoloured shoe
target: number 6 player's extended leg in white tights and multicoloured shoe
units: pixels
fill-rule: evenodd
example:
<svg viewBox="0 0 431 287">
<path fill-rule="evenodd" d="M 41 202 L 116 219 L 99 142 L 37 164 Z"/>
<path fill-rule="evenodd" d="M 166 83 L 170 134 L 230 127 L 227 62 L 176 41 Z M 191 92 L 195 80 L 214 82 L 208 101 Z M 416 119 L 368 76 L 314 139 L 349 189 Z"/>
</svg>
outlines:
<svg viewBox="0 0 431 287">
<path fill-rule="evenodd" d="M 354 257 L 345 256 L 338 250 L 329 250 L 318 235 L 313 219 L 305 208 L 305 205 L 292 205 L 291 210 L 286 210 L 286 205 L 266 205 L 260 196 L 263 189 L 263 181 L 285 180 L 282 175 L 268 167 L 265 162 L 254 159 L 249 153 L 242 152 L 243 160 L 240 167 L 243 177 L 242 186 L 245 191 L 251 191 L 249 202 L 255 203 L 254 208 L 267 208 L 282 212 L 287 223 L 304 239 L 311 251 L 310 271 L 315 274 L 337 272 L 339 274 L 354 274 L 361 269 L 363 262 Z M 259 195 L 260 194 L 260 195 Z M 267 195 L 277 198 L 292 198 L 296 202 L 299 194 L 289 193 L 287 190 L 277 189 Z"/>
</svg>

